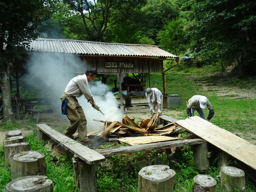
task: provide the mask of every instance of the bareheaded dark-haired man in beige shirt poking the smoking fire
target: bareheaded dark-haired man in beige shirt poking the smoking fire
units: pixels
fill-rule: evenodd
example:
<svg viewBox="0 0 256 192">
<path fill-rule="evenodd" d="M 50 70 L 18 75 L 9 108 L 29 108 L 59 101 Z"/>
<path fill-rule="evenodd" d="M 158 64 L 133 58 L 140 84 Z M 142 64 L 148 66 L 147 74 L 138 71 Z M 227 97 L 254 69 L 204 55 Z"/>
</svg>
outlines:
<svg viewBox="0 0 256 192">
<path fill-rule="evenodd" d="M 78 136 L 81 143 L 92 143 L 94 140 L 87 137 L 86 117 L 76 97 L 81 97 L 84 95 L 87 102 L 90 102 L 94 109 L 100 109 L 92 98 L 92 93 L 88 84 L 88 82 L 93 81 L 97 75 L 97 71 L 90 68 L 85 72 L 84 75 L 74 77 L 69 81 L 64 94 L 60 98 L 61 102 L 65 99 L 68 100 L 67 117 L 69 119 L 69 124 L 68 128 L 64 132 L 64 135 L 74 139 L 73 134 L 78 128 Z"/>
</svg>

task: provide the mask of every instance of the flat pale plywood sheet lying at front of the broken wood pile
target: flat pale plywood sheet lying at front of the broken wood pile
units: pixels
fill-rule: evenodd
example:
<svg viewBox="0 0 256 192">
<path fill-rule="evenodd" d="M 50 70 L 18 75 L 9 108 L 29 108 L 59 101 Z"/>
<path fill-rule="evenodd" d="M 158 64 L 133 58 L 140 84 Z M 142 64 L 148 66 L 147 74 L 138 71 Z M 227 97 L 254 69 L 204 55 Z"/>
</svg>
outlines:
<svg viewBox="0 0 256 192">
<path fill-rule="evenodd" d="M 140 145 L 146 143 L 156 143 L 162 141 L 178 140 L 178 137 L 166 137 L 166 136 L 147 136 L 147 137 L 125 137 L 117 139 L 122 142 L 126 142 L 129 145 Z"/>
</svg>

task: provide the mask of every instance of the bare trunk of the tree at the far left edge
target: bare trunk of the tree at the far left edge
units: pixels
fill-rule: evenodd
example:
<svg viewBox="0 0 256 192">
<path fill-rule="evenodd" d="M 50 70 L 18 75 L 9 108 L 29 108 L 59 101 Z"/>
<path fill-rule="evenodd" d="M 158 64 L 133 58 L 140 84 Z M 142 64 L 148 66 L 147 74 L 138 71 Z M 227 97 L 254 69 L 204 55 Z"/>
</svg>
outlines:
<svg viewBox="0 0 256 192">
<path fill-rule="evenodd" d="M 4 62 L 0 62 L 0 86 L 3 95 L 4 122 L 12 122 L 13 111 L 10 89 L 10 66 Z"/>
</svg>

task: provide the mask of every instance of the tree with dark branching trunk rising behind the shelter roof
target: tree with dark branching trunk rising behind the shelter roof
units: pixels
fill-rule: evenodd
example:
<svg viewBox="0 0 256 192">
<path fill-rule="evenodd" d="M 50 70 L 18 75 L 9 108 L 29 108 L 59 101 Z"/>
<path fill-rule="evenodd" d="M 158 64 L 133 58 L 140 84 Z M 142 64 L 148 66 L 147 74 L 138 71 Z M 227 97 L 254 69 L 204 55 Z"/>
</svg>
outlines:
<svg viewBox="0 0 256 192">
<path fill-rule="evenodd" d="M 104 42 L 107 29 L 112 25 L 125 23 L 145 0 L 64 0 L 64 2 L 71 10 L 81 15 L 89 40 Z"/>
</svg>

